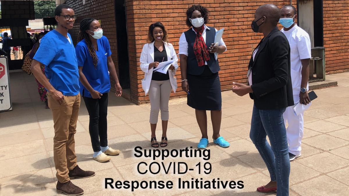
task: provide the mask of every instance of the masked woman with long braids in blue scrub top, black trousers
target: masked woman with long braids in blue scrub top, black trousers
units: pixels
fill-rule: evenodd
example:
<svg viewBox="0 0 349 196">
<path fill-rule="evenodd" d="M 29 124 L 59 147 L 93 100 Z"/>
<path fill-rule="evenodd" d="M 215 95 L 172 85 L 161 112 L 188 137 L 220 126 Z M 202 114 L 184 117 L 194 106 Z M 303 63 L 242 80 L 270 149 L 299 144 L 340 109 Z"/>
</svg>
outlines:
<svg viewBox="0 0 349 196">
<path fill-rule="evenodd" d="M 80 32 L 75 51 L 80 75 L 80 94 L 90 116 L 93 159 L 99 162 L 110 160 L 109 155 L 117 155 L 119 150 L 108 146 L 107 107 L 110 77 L 115 81 L 115 95 L 121 96 L 122 89 L 111 58 L 108 39 L 103 36 L 101 24 L 94 18 L 84 18 L 80 22 Z"/>
</svg>

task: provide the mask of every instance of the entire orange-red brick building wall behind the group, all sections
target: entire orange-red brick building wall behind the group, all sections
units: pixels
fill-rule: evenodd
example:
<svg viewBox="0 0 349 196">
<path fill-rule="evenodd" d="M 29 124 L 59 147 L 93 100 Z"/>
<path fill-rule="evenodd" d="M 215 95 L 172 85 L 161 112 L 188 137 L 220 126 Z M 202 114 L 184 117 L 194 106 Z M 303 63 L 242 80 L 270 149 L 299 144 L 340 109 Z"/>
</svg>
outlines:
<svg viewBox="0 0 349 196">
<path fill-rule="evenodd" d="M 102 20 L 104 35 L 110 40 L 112 58 L 118 68 L 116 26 L 113 0 L 66 1 L 78 15 L 74 29 L 70 31 L 76 39 L 79 21 L 84 17 Z M 130 99 L 137 104 L 149 102 L 141 87 L 143 71 L 139 67 L 139 58 L 146 43 L 148 27 L 151 23 L 162 22 L 168 30 L 170 43 L 178 52 L 178 40 L 188 28 L 185 25 L 186 9 L 192 4 L 201 4 L 210 11 L 209 24 L 216 29 L 225 28 L 223 39 L 228 51 L 218 55 L 220 60 L 222 90 L 231 88 L 232 82 L 247 82 L 247 64 L 253 48 L 261 36 L 252 32 L 251 22 L 255 10 L 264 3 L 273 3 L 280 8 L 289 4 L 289 0 L 126 0 Z M 293 1 L 296 6 L 296 1 Z M 326 47 L 326 72 L 337 73 L 349 70 L 348 54 L 348 6 L 349 0 L 324 0 L 324 46 Z M 281 26 L 280 26 L 281 27 Z M 76 40 L 74 40 L 76 41 Z M 180 68 L 177 71 L 177 93 L 171 98 L 186 96 L 181 91 Z M 118 71 L 118 70 L 117 70 Z"/>
</svg>

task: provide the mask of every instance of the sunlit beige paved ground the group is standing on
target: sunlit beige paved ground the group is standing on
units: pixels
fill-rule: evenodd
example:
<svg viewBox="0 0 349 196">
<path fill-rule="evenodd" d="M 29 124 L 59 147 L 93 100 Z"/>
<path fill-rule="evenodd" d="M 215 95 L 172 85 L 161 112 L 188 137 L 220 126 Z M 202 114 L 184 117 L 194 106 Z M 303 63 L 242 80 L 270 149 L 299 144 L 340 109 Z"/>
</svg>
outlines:
<svg viewBox="0 0 349 196">
<path fill-rule="evenodd" d="M 326 76 L 338 81 L 338 86 L 315 90 L 318 99 L 304 114 L 305 130 L 302 156 L 291 162 L 290 195 L 344 196 L 349 192 L 349 73 Z M 50 110 L 40 102 L 34 76 L 10 73 L 13 111 L 0 113 L 0 195 L 57 195 L 53 163 L 53 121 Z M 255 192 L 258 186 L 269 182 L 269 173 L 249 138 L 253 101 L 238 97 L 231 91 L 222 92 L 223 118 L 221 135 L 230 142 L 223 149 L 209 140 L 212 172 L 187 174 L 140 175 L 136 166 L 149 158 L 135 158 L 134 147 L 151 149 L 149 112 L 150 104 L 134 105 L 123 98 L 110 96 L 108 107 L 109 146 L 120 149 L 107 163 L 92 160 L 88 133 L 89 117 L 82 101 L 77 122 L 76 154 L 82 169 L 96 172 L 88 179 L 72 180 L 84 189 L 84 195 L 241 195 L 263 196 Z M 208 113 L 209 117 L 209 113 Z M 159 120 L 159 122 L 161 122 Z M 210 120 L 209 134 L 212 133 Z M 184 149 L 201 138 L 194 109 L 186 105 L 186 98 L 170 100 L 168 125 L 169 145 L 166 149 Z M 157 128 L 161 139 L 161 124 Z M 159 148 L 160 150 L 162 148 Z M 199 158 L 170 158 L 184 161 L 195 168 Z M 165 189 L 104 189 L 104 178 L 114 180 L 172 180 L 174 188 Z M 178 178 L 190 180 L 242 180 L 243 189 L 177 189 Z M 275 194 L 269 194 L 275 195 Z"/>
</svg>

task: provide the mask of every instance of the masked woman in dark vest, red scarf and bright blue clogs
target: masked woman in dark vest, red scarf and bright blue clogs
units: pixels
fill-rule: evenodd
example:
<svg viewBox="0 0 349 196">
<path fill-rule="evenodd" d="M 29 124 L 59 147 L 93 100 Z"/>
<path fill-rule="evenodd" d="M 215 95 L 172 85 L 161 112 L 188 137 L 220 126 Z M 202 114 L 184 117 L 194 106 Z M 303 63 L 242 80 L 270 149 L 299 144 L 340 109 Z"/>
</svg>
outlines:
<svg viewBox="0 0 349 196">
<path fill-rule="evenodd" d="M 201 130 L 202 138 L 199 149 L 205 149 L 208 144 L 207 115 L 211 111 L 213 127 L 213 142 L 223 148 L 229 143 L 220 136 L 222 120 L 221 83 L 218 76 L 220 70 L 218 59 L 214 53 L 221 54 L 227 50 L 223 39 L 214 46 L 216 29 L 208 27 L 208 10 L 200 5 L 188 8 L 186 24 L 189 30 L 179 38 L 180 70 L 182 89 L 187 93 L 188 106 L 195 109 L 196 120 Z"/>
</svg>

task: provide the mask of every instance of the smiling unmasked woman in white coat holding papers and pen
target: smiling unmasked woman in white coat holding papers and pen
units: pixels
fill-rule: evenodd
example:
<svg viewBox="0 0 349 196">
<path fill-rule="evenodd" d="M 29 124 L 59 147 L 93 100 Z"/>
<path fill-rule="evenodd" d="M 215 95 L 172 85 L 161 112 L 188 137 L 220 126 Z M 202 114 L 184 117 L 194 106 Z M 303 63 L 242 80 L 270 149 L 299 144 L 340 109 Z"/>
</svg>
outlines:
<svg viewBox="0 0 349 196">
<path fill-rule="evenodd" d="M 171 89 L 176 92 L 177 79 L 175 77 L 178 68 L 178 58 L 172 44 L 168 43 L 168 36 L 164 25 L 160 22 L 153 23 L 149 26 L 148 43 L 143 46 L 140 63 L 144 71 L 142 88 L 150 100 L 150 129 L 151 129 L 151 146 L 158 148 L 156 141 L 155 129 L 161 110 L 162 120 L 162 138 L 161 147 L 167 146 L 167 124 L 169 120 L 169 99 Z M 168 68 L 166 74 L 154 71 L 161 62 L 174 60 Z"/>
</svg>

